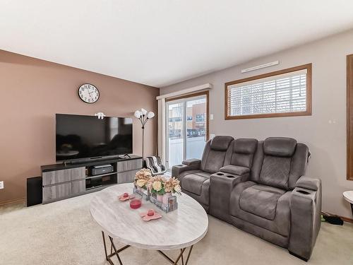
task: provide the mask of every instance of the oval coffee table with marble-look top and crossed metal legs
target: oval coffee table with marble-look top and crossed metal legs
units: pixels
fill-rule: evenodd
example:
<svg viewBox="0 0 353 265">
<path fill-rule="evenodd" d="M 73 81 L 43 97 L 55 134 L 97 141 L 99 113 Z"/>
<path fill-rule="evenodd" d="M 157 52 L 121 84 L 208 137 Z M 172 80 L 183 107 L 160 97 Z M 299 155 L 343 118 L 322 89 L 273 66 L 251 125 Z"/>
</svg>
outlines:
<svg viewBox="0 0 353 265">
<path fill-rule="evenodd" d="M 103 189 L 93 197 L 90 203 L 92 218 L 102 228 L 104 252 L 109 264 L 113 264 L 111 257 L 116 255 L 122 265 L 119 252 L 127 247 L 154 249 L 160 252 L 170 263 L 188 264 L 193 245 L 200 241 L 208 230 L 208 216 L 203 207 L 191 196 L 182 194 L 177 196 L 178 208 L 175 211 L 164 213 L 150 201 L 142 201 L 142 206 L 133 210 L 129 201 L 119 201 L 118 196 L 124 192 L 131 193 L 132 183 L 117 184 Z M 142 212 L 154 209 L 162 218 L 148 222 L 140 218 Z M 107 253 L 104 232 L 111 243 L 110 254 Z M 126 244 L 116 249 L 114 240 Z M 184 263 L 184 252 L 189 248 Z M 114 251 L 113 251 L 114 249 Z M 180 249 L 176 260 L 172 260 L 162 250 Z M 186 252 L 185 252 L 186 253 Z"/>
</svg>

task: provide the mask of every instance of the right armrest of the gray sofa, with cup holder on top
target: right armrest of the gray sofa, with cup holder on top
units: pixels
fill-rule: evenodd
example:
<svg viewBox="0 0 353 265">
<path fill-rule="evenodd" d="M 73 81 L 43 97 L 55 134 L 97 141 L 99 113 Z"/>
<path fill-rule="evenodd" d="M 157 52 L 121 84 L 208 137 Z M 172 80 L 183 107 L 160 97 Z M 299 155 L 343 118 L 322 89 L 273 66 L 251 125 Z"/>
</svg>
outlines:
<svg viewBox="0 0 353 265">
<path fill-rule="evenodd" d="M 321 226 L 321 180 L 301 177 L 290 196 L 289 208 L 289 253 L 307 261 Z"/>
</svg>

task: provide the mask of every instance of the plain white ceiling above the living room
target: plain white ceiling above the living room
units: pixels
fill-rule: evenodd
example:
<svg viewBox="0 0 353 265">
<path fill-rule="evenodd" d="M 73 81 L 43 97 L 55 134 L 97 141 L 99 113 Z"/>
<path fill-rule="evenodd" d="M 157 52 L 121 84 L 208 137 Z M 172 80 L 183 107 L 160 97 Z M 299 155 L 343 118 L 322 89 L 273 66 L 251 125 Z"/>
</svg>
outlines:
<svg viewBox="0 0 353 265">
<path fill-rule="evenodd" d="M 0 0 L 0 49 L 156 87 L 349 28 L 352 0 Z"/>
</svg>

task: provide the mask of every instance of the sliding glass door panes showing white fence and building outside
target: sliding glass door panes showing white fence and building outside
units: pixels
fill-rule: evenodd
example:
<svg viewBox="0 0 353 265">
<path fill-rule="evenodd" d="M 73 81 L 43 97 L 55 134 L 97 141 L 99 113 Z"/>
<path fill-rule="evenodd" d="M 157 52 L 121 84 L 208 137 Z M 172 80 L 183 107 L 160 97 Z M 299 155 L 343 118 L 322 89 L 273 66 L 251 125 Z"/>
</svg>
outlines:
<svg viewBox="0 0 353 265">
<path fill-rule="evenodd" d="M 207 141 L 208 94 L 166 102 L 167 169 L 183 160 L 201 158 Z"/>
</svg>

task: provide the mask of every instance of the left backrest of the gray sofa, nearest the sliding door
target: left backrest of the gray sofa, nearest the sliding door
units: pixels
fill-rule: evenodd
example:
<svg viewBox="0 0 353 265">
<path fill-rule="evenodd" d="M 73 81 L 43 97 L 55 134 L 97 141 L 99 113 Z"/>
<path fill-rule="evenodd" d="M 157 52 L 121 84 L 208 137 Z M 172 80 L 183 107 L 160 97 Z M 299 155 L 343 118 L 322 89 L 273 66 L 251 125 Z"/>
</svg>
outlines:
<svg viewBox="0 0 353 265">
<path fill-rule="evenodd" d="M 233 140 L 232 136 L 215 136 L 208 141 L 203 151 L 201 170 L 210 173 L 218 172 L 225 163 L 225 155 Z"/>
</svg>

